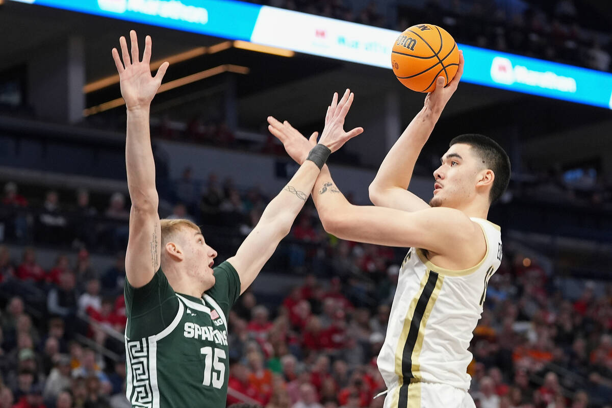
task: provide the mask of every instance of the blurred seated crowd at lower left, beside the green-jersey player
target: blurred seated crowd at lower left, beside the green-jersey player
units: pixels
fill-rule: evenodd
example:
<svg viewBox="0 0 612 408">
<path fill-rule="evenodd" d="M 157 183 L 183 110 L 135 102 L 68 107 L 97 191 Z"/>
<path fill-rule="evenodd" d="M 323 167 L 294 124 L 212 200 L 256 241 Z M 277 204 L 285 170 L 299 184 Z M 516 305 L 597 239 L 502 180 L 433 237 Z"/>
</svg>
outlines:
<svg viewBox="0 0 612 408">
<path fill-rule="evenodd" d="M 18 261 L 0 246 L 0 407 L 130 407 L 124 278 L 123 254 L 105 271 L 85 250 L 75 264 L 58 253 L 43 268 L 34 248 Z M 101 347 L 119 358 L 102 358 Z"/>
</svg>

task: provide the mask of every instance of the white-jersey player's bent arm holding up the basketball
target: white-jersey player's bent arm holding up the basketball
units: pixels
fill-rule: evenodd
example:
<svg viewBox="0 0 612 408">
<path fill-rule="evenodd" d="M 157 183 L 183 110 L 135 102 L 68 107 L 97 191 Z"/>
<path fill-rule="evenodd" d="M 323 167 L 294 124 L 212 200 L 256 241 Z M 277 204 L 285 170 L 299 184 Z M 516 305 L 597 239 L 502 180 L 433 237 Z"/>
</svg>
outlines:
<svg viewBox="0 0 612 408">
<path fill-rule="evenodd" d="M 408 185 L 420 151 L 438 122 L 442 109 L 457 90 L 462 74 L 463 53 L 459 51 L 459 69 L 455 78 L 446 87 L 444 87 L 444 77 L 438 78 L 435 91 L 427 94 L 423 109 L 412 119 L 378 169 L 369 188 L 370 200 L 375 206 L 405 211 L 417 211 L 429 207 L 425 201 L 408 191 Z"/>
</svg>

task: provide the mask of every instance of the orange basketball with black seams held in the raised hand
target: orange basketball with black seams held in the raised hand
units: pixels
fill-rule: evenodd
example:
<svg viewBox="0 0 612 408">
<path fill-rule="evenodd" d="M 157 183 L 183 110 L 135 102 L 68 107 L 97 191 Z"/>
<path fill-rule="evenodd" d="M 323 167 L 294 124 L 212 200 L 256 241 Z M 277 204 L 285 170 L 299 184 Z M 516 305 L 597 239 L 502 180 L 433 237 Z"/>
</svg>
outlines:
<svg viewBox="0 0 612 408">
<path fill-rule="evenodd" d="M 448 84 L 459 67 L 459 50 L 445 29 L 433 24 L 417 24 L 402 32 L 391 53 L 391 65 L 397 79 L 412 91 L 431 92 L 436 78 L 444 76 Z"/>
</svg>

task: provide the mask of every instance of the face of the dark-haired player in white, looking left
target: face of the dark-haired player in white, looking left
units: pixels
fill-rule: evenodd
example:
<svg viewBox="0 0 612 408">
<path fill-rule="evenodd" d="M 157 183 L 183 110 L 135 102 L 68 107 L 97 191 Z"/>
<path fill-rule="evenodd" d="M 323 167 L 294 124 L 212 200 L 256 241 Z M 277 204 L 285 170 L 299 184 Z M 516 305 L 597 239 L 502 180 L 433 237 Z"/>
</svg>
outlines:
<svg viewBox="0 0 612 408">
<path fill-rule="evenodd" d="M 476 196 L 476 183 L 482 165 L 468 144 L 450 146 L 442 156 L 442 163 L 433 172 L 435 178 L 431 207 L 461 208 Z"/>
</svg>

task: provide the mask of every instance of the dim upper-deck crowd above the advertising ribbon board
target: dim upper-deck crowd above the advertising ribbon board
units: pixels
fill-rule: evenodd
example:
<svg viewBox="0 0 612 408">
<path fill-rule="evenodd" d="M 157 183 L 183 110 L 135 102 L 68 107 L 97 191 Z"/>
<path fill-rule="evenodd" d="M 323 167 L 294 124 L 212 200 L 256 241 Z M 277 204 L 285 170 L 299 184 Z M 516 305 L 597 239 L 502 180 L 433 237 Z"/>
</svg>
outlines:
<svg viewBox="0 0 612 408">
<path fill-rule="evenodd" d="M 592 31 L 590 16 L 580 15 L 575 0 L 558 0 L 553 7 L 521 0 L 428 0 L 422 7 L 398 2 L 395 13 L 381 12 L 375 1 L 360 9 L 345 0 L 253 2 L 398 31 L 419 23 L 437 24 L 457 42 L 610 71 L 610 33 Z"/>
</svg>

